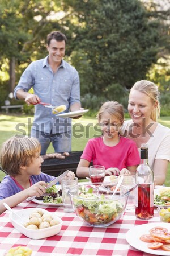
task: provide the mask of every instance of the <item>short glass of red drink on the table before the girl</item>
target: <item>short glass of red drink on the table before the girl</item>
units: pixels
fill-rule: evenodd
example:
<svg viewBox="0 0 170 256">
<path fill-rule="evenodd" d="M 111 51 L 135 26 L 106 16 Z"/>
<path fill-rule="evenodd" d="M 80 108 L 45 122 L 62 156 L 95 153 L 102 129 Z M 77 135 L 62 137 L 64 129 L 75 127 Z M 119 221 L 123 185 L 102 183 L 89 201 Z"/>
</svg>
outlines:
<svg viewBox="0 0 170 256">
<path fill-rule="evenodd" d="M 105 177 L 105 167 L 104 166 L 90 166 L 89 167 L 89 177 L 92 183 L 103 182 Z"/>
</svg>

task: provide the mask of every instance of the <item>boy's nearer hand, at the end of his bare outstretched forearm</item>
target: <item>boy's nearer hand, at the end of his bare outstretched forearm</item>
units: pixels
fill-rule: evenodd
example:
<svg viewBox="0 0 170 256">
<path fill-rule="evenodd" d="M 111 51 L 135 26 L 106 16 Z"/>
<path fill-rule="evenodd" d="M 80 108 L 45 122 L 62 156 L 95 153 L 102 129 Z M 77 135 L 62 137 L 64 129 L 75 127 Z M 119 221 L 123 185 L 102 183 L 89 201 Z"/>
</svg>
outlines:
<svg viewBox="0 0 170 256">
<path fill-rule="evenodd" d="M 45 181 L 39 181 L 33 184 L 31 187 L 27 188 L 28 197 L 30 196 L 42 196 L 46 192 L 46 187 L 48 184 Z"/>
</svg>

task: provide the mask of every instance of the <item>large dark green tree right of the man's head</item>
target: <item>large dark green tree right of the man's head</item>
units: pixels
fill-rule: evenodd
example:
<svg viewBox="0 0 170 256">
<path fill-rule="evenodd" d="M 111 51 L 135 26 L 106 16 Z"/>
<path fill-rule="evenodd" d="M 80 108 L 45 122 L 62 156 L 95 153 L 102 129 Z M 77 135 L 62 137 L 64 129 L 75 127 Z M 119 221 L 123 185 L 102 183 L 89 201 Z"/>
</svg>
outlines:
<svg viewBox="0 0 170 256">
<path fill-rule="evenodd" d="M 145 79 L 148 68 L 156 62 L 159 24 L 148 19 L 141 2 L 63 2 L 67 11 L 68 6 L 72 8 L 66 19 L 68 24 L 72 22 L 76 42 L 72 57 L 81 75 L 83 93 L 112 95 L 114 84 L 130 88 L 135 81 Z"/>
</svg>

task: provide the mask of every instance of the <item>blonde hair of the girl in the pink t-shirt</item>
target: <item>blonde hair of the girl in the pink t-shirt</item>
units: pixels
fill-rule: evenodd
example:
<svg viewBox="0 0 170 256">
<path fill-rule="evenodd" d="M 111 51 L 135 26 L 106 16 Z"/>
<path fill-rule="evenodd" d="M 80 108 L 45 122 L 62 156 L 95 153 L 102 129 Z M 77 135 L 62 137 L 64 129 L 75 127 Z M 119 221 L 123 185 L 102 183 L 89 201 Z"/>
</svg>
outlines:
<svg viewBox="0 0 170 256">
<path fill-rule="evenodd" d="M 105 112 L 112 115 L 112 117 L 115 117 L 116 119 L 118 119 L 120 124 L 124 122 L 124 107 L 122 106 L 122 104 L 118 103 L 117 101 L 107 101 L 101 106 L 97 114 L 99 123 L 102 118 L 102 115 Z"/>
</svg>

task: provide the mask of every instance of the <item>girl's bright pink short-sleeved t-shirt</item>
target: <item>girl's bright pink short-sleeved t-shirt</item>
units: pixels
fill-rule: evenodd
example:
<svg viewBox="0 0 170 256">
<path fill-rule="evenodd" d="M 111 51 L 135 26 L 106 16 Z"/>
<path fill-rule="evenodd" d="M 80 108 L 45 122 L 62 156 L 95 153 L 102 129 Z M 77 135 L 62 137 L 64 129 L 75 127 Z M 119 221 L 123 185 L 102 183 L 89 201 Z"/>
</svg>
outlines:
<svg viewBox="0 0 170 256">
<path fill-rule="evenodd" d="M 108 168 L 127 168 L 140 163 L 138 148 L 134 141 L 120 137 L 120 142 L 113 147 L 103 143 L 103 137 L 93 138 L 87 142 L 81 159 Z"/>
</svg>

